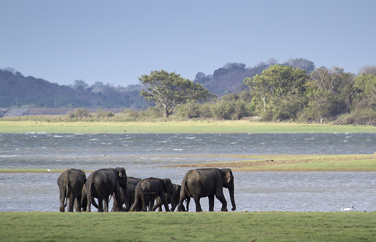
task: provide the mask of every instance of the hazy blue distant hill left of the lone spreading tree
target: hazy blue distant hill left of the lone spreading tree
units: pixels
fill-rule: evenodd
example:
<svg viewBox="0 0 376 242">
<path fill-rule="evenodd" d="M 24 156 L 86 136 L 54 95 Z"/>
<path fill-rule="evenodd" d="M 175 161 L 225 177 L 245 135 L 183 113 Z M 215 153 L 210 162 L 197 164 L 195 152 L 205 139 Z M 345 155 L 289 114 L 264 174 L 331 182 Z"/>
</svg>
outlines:
<svg viewBox="0 0 376 242">
<path fill-rule="evenodd" d="M 0 107 L 143 108 L 155 105 L 140 97 L 141 85 L 127 87 L 82 80 L 59 85 L 41 78 L 24 76 L 13 69 L 0 69 Z"/>
</svg>

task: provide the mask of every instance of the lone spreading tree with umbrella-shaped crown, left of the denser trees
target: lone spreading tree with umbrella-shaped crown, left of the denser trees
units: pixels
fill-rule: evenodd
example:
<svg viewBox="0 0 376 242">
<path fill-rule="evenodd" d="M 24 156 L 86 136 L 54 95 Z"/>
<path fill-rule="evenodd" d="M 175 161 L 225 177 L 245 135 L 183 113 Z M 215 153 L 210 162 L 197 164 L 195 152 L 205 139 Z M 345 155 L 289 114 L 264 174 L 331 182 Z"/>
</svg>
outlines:
<svg viewBox="0 0 376 242">
<path fill-rule="evenodd" d="M 176 106 L 180 106 L 188 101 L 205 100 L 214 97 L 201 84 L 185 79 L 175 72 L 165 70 L 154 70 L 149 75 L 141 75 L 138 78 L 145 86 L 140 91 L 140 96 L 147 100 L 161 103 L 165 108 L 164 116 L 168 117 L 173 113 Z"/>
</svg>

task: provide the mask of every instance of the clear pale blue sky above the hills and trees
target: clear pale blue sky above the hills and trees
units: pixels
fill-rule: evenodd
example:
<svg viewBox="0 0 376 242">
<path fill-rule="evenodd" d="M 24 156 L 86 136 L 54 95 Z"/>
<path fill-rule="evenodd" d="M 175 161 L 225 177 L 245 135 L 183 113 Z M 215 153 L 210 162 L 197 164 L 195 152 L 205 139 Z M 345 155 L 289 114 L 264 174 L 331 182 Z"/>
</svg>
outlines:
<svg viewBox="0 0 376 242">
<path fill-rule="evenodd" d="M 59 84 L 193 80 L 227 62 L 376 64 L 376 0 L 0 0 L 0 68 Z"/>
</svg>

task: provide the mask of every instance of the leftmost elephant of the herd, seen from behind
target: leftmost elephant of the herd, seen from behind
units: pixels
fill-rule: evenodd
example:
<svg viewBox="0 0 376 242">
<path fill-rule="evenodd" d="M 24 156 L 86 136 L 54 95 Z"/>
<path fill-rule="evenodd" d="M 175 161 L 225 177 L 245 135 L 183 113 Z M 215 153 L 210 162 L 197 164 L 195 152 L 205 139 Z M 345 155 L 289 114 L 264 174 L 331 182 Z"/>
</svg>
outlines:
<svg viewBox="0 0 376 242">
<path fill-rule="evenodd" d="M 81 169 L 67 169 L 58 178 L 60 189 L 60 211 L 64 212 L 68 203 L 68 211 L 81 211 L 82 187 L 86 182 L 86 173 Z M 69 197 L 69 200 L 68 200 Z"/>
</svg>

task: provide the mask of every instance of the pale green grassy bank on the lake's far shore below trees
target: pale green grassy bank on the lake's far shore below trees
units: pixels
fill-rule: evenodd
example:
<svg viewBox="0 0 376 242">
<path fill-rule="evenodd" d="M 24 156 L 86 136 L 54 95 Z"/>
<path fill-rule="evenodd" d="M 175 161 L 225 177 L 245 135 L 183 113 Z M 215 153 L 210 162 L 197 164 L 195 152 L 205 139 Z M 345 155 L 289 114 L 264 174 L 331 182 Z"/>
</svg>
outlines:
<svg viewBox="0 0 376 242">
<path fill-rule="evenodd" d="M 47 122 L 0 120 L 0 132 L 51 133 L 298 133 L 298 132 L 376 132 L 370 125 L 302 124 L 252 122 L 249 120 L 189 120 L 161 122 Z"/>
</svg>

